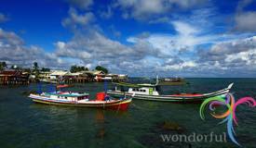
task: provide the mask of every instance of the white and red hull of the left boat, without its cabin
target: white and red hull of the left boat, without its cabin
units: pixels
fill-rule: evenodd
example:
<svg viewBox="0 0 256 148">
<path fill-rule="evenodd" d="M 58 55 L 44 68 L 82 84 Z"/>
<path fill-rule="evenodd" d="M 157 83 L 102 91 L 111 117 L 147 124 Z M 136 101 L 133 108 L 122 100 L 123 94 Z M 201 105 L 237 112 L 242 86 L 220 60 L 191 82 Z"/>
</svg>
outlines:
<svg viewBox="0 0 256 148">
<path fill-rule="evenodd" d="M 127 110 L 128 105 L 131 102 L 131 98 L 123 99 L 123 100 L 115 100 L 111 102 L 97 102 L 97 101 L 88 101 L 88 103 L 77 103 L 71 101 L 56 101 L 44 96 L 40 96 L 37 94 L 31 94 L 29 96 L 32 98 L 34 103 L 45 104 L 45 105 L 65 105 L 65 106 L 80 106 L 80 107 L 93 107 L 93 108 L 101 108 L 101 109 L 116 109 L 116 110 Z"/>
</svg>

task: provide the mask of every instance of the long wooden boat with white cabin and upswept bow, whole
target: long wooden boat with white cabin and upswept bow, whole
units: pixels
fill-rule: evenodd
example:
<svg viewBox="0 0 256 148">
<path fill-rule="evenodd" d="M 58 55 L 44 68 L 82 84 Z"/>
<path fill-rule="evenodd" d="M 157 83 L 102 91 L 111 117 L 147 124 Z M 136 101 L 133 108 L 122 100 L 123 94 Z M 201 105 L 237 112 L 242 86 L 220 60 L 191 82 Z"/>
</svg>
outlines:
<svg viewBox="0 0 256 148">
<path fill-rule="evenodd" d="M 122 92 L 117 90 L 115 87 L 115 91 L 109 90 L 107 93 L 112 96 L 121 96 L 126 94 L 126 96 L 145 101 L 161 101 L 161 102 L 173 102 L 173 103 L 199 103 L 204 101 L 207 98 L 225 95 L 229 93 L 230 89 L 233 86 L 233 83 L 228 85 L 227 88 L 222 89 L 220 91 L 214 93 L 182 93 L 182 94 L 172 94 L 172 95 L 160 95 L 157 92 L 156 85 L 152 84 L 119 84 L 129 86 L 128 92 Z"/>
</svg>

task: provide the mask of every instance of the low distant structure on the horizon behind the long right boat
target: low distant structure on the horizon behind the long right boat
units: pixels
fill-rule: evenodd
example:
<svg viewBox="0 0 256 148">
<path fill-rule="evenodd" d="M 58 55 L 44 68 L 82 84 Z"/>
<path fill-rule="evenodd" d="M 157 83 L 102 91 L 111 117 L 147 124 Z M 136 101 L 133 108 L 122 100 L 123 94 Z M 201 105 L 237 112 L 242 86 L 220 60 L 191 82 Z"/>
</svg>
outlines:
<svg viewBox="0 0 256 148">
<path fill-rule="evenodd" d="M 164 79 L 160 79 L 158 82 L 158 85 L 182 85 L 182 84 L 186 84 L 186 81 L 179 77 L 164 78 Z"/>
</svg>

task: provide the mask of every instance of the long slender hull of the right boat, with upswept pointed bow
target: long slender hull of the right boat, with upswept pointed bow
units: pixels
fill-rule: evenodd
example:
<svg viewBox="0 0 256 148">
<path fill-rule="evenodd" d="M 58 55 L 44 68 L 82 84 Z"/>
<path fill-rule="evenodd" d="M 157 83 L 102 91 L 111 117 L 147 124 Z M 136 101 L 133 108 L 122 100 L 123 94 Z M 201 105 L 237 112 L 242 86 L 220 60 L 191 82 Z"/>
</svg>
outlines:
<svg viewBox="0 0 256 148">
<path fill-rule="evenodd" d="M 233 85 L 233 84 L 232 84 Z M 186 95 L 186 94 L 175 94 L 175 95 L 141 95 L 141 94 L 132 94 L 126 93 L 126 96 L 137 99 L 137 100 L 144 100 L 144 101 L 159 101 L 159 102 L 172 102 L 172 103 L 200 103 L 207 98 L 225 95 L 229 93 L 232 85 L 229 85 L 228 88 L 223 89 L 221 91 L 217 91 L 214 93 L 205 93 L 205 94 L 198 94 L 198 95 Z M 111 96 L 124 96 L 123 92 L 119 91 L 108 91 L 107 92 Z"/>
</svg>

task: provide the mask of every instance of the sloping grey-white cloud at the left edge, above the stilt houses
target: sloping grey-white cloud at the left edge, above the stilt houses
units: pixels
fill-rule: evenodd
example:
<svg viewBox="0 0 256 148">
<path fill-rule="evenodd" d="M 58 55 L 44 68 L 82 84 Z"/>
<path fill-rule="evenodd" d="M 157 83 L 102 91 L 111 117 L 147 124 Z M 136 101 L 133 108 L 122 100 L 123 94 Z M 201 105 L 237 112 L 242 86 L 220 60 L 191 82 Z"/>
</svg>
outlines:
<svg viewBox="0 0 256 148">
<path fill-rule="evenodd" d="M 66 64 L 61 63 L 61 59 L 55 54 L 46 53 L 40 47 L 34 45 L 27 47 L 15 32 L 2 29 L 0 29 L 0 53 L 0 60 L 6 61 L 9 65 L 31 67 L 36 61 L 40 67 L 64 68 L 63 65 Z"/>
</svg>

